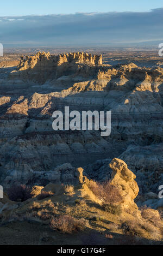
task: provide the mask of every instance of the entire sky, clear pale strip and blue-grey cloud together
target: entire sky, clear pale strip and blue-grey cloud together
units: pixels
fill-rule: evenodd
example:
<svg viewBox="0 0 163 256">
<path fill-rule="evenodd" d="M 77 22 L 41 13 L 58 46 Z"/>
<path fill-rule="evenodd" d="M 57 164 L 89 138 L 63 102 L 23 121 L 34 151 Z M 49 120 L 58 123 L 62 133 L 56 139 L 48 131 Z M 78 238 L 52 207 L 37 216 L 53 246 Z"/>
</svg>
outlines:
<svg viewBox="0 0 163 256">
<path fill-rule="evenodd" d="M 163 43 L 161 0 L 5 0 L 4 47 Z"/>
</svg>

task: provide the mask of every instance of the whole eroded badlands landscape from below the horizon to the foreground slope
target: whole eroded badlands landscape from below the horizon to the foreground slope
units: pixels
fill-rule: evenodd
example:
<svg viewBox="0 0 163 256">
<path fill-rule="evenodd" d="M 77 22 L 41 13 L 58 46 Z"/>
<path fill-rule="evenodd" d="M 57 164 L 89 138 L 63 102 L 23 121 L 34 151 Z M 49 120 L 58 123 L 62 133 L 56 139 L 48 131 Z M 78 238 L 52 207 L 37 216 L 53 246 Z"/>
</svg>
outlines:
<svg viewBox="0 0 163 256">
<path fill-rule="evenodd" d="M 1 244 L 162 245 L 162 60 L 116 54 L 0 58 Z M 110 135 L 54 130 L 67 108 L 111 113 Z"/>
</svg>

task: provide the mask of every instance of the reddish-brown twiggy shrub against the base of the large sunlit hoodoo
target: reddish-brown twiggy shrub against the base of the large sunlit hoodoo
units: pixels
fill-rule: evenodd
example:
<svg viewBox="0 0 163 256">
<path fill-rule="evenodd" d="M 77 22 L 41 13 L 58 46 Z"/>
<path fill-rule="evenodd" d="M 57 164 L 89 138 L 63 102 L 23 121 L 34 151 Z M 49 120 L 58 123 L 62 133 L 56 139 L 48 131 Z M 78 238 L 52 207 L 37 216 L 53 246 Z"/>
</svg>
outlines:
<svg viewBox="0 0 163 256">
<path fill-rule="evenodd" d="M 91 183 L 89 186 L 93 194 L 95 194 L 103 204 L 116 204 L 122 201 L 122 196 L 118 188 L 113 186 L 110 181 Z"/>
</svg>

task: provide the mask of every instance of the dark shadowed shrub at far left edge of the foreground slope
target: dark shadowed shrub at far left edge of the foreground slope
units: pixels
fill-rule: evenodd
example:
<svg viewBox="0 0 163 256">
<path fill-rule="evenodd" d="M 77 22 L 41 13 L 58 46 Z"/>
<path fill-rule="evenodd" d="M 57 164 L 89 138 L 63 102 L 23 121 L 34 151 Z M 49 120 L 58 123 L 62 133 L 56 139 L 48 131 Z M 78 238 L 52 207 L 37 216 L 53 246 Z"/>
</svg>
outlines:
<svg viewBox="0 0 163 256">
<path fill-rule="evenodd" d="M 23 184 L 20 186 L 12 186 L 7 191 L 10 200 L 20 202 L 32 198 L 31 192 L 32 188 Z"/>
</svg>

